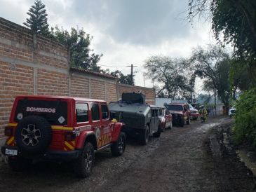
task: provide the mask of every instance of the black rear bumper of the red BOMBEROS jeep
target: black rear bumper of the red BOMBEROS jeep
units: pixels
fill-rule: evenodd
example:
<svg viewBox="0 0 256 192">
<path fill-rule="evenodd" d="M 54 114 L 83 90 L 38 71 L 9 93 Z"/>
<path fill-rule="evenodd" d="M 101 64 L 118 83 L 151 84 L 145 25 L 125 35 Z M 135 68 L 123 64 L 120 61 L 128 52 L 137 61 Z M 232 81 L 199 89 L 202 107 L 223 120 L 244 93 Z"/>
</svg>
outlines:
<svg viewBox="0 0 256 192">
<path fill-rule="evenodd" d="M 18 150 L 17 156 L 22 156 L 25 158 L 31 158 L 31 159 L 39 158 L 39 159 L 60 160 L 60 161 L 75 160 L 76 158 L 79 157 L 81 153 L 80 150 L 74 150 L 74 151 L 45 151 L 44 153 L 41 153 L 41 154 L 34 154 L 34 153 L 22 152 L 18 149 L 17 146 L 4 145 L 1 147 L 1 152 L 5 156 L 10 156 L 6 154 L 6 149 Z"/>
</svg>

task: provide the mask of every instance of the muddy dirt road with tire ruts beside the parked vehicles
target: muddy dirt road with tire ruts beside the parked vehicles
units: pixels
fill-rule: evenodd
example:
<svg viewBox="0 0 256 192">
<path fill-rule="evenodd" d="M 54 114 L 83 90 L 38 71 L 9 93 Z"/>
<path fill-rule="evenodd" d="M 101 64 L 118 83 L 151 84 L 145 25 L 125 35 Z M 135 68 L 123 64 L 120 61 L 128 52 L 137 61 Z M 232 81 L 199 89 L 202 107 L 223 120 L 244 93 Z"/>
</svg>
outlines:
<svg viewBox="0 0 256 192">
<path fill-rule="evenodd" d="M 147 146 L 129 140 L 121 157 L 97 153 L 87 179 L 74 178 L 69 164 L 36 163 L 18 173 L 1 165 L 0 191 L 253 191 L 255 177 L 213 136 L 216 125 L 229 122 L 212 118 L 174 127 Z"/>
</svg>

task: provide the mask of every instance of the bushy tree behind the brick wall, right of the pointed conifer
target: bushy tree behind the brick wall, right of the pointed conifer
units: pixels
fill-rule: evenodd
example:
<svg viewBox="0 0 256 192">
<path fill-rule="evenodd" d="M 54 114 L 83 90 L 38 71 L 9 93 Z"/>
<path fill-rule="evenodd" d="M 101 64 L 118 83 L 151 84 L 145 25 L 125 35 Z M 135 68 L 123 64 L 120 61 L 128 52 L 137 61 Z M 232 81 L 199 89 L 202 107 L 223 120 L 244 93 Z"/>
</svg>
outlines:
<svg viewBox="0 0 256 192">
<path fill-rule="evenodd" d="M 93 37 L 90 34 L 86 34 L 83 29 L 79 28 L 72 28 L 69 33 L 58 26 L 51 30 L 51 34 L 53 34 L 53 39 L 67 46 L 72 66 L 102 72 L 100 67 L 97 66 L 97 62 L 100 61 L 102 54 L 91 53 L 93 50 L 89 46 Z"/>
</svg>

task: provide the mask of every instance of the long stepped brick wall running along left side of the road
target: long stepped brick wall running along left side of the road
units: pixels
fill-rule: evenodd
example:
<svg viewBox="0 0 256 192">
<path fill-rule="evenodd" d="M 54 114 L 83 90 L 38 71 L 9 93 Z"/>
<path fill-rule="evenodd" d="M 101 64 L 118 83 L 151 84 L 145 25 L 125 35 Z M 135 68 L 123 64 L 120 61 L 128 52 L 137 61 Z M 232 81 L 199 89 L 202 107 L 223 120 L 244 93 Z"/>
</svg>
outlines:
<svg viewBox="0 0 256 192">
<path fill-rule="evenodd" d="M 154 90 L 116 83 L 113 76 L 69 68 L 65 46 L 0 18 L 0 145 L 17 95 L 69 95 L 115 102 L 121 92 Z M 0 160 L 1 161 L 1 160 Z"/>
</svg>

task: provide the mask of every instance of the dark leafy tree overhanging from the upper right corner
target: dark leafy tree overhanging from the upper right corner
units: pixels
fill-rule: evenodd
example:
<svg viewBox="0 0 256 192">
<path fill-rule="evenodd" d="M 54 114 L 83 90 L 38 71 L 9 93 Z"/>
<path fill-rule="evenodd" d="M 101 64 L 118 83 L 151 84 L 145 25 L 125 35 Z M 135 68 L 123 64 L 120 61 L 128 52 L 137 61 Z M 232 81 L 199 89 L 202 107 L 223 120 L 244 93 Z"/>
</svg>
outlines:
<svg viewBox="0 0 256 192">
<path fill-rule="evenodd" d="M 204 14 L 211 20 L 217 40 L 232 43 L 236 56 L 253 60 L 256 57 L 255 10 L 255 0 L 189 0 L 190 20 Z"/>
</svg>

